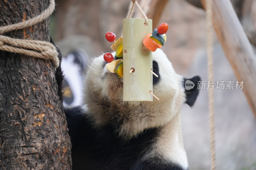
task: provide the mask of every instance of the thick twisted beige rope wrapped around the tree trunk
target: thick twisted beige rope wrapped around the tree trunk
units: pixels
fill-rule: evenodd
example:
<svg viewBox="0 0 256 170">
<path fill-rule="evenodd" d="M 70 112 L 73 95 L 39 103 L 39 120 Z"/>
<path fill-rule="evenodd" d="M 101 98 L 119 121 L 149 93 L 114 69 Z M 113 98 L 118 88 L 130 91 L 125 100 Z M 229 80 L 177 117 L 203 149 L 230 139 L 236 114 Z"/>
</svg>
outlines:
<svg viewBox="0 0 256 170">
<path fill-rule="evenodd" d="M 52 14 L 54 7 L 54 0 L 50 0 L 48 8 L 39 16 L 17 24 L 0 27 L 0 50 L 29 55 L 36 58 L 50 59 L 52 60 L 54 67 L 58 67 L 60 64 L 58 52 L 52 43 L 45 41 L 14 39 L 1 35 L 6 32 L 23 29 L 42 22 Z"/>
</svg>

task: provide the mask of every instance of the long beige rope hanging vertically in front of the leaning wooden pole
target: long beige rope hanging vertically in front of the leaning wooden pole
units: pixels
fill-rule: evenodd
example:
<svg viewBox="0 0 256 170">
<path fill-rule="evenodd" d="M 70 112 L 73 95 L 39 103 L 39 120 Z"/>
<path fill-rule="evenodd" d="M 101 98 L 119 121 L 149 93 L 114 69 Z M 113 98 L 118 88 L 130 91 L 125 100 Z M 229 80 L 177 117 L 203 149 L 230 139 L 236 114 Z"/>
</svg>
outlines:
<svg viewBox="0 0 256 170">
<path fill-rule="evenodd" d="M 207 22 L 207 60 L 208 60 L 208 80 L 213 81 L 213 33 L 212 33 L 212 0 L 206 0 L 206 22 Z M 209 119 L 211 131 L 211 170 L 216 169 L 215 156 L 215 131 L 214 131 L 214 96 L 213 89 L 208 89 L 209 97 Z"/>
</svg>

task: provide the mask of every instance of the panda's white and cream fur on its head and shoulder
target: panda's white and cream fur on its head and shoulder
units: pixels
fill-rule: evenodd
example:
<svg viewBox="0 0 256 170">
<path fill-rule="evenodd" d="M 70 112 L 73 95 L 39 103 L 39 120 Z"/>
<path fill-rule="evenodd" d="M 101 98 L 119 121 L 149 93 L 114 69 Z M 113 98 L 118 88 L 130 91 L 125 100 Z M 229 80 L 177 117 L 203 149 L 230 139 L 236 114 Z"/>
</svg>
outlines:
<svg viewBox="0 0 256 170">
<path fill-rule="evenodd" d="M 113 53 L 114 55 L 115 53 Z M 128 102 L 123 101 L 122 78 L 118 78 L 116 74 L 110 73 L 104 67 L 103 56 L 94 58 L 86 74 L 85 106 L 80 109 L 80 112 L 86 114 L 88 122 L 96 129 L 104 129 L 105 126 L 111 125 L 114 128 L 113 133 L 116 134 L 115 139 L 117 138 L 124 145 L 129 144 L 131 140 L 136 140 L 137 137 L 141 138 L 144 133 L 147 133 L 147 129 L 156 129 L 157 135 L 154 141 L 148 145 L 150 149 L 145 152 L 143 150 L 142 156 L 142 153 L 137 153 L 140 155 L 138 157 L 140 161 L 150 162 L 157 158 L 157 165 L 162 162 L 164 165 L 174 165 L 173 167 L 176 169 L 177 167 L 188 169 L 180 121 L 180 107 L 186 102 L 184 78 L 175 73 L 171 62 L 161 49 L 153 52 L 153 61 L 158 63 L 158 73 L 160 74 L 158 82 L 153 85 L 153 93 L 160 100 Z M 72 123 L 72 118 L 69 118 L 67 112 L 68 123 Z M 72 126 L 68 127 L 72 128 Z M 73 131 L 71 130 L 70 133 Z M 72 134 L 70 136 L 72 142 Z M 72 144 L 74 146 L 74 143 Z M 73 156 L 74 154 L 72 158 Z M 140 161 L 136 166 L 131 167 L 134 169 L 144 167 L 144 164 L 140 165 Z M 149 165 L 147 167 L 151 168 Z"/>
</svg>

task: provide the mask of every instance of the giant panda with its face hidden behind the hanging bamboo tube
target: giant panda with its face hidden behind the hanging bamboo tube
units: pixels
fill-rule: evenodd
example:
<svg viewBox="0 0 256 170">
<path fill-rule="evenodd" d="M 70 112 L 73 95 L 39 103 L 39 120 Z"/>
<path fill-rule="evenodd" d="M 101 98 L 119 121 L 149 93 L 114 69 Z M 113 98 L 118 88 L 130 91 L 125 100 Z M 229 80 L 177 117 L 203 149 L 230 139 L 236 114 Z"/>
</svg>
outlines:
<svg viewBox="0 0 256 170">
<path fill-rule="evenodd" d="M 113 54 L 115 55 L 115 54 Z M 72 143 L 72 168 L 109 170 L 187 170 L 180 107 L 192 107 L 199 76 L 175 73 L 161 49 L 153 52 L 153 92 L 160 99 L 123 101 L 123 79 L 110 73 L 103 55 L 90 63 L 84 105 L 65 108 Z"/>
</svg>

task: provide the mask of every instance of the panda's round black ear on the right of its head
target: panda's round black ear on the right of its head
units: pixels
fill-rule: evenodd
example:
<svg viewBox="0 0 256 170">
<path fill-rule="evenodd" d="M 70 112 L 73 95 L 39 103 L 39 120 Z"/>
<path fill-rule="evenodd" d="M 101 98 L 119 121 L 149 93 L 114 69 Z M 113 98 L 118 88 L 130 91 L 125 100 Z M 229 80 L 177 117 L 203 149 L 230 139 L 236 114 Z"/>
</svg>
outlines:
<svg viewBox="0 0 256 170">
<path fill-rule="evenodd" d="M 199 83 L 201 78 L 199 76 L 194 76 L 192 78 L 184 78 L 184 88 L 186 94 L 186 102 L 190 107 L 192 107 L 199 94 Z M 198 83 L 199 82 L 199 83 Z"/>
</svg>

